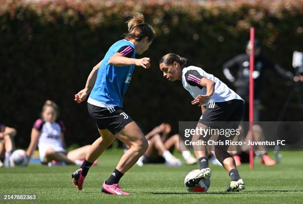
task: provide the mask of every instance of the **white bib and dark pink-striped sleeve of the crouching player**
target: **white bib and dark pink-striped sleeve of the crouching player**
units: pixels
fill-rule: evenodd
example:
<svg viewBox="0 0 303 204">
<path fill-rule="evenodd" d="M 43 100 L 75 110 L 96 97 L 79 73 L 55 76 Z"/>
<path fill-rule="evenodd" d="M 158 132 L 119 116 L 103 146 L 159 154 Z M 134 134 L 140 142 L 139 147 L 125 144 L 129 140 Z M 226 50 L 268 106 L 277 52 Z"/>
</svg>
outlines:
<svg viewBox="0 0 303 204">
<path fill-rule="evenodd" d="M 208 102 L 226 102 L 233 99 L 242 100 L 238 94 L 228 88 L 228 86 L 221 82 L 217 77 L 206 73 L 200 67 L 189 66 L 182 70 L 182 84 L 194 99 L 199 95 L 206 95 L 206 87 L 200 85 L 200 81 L 203 77 L 206 77 L 215 83 L 214 93 Z"/>
</svg>

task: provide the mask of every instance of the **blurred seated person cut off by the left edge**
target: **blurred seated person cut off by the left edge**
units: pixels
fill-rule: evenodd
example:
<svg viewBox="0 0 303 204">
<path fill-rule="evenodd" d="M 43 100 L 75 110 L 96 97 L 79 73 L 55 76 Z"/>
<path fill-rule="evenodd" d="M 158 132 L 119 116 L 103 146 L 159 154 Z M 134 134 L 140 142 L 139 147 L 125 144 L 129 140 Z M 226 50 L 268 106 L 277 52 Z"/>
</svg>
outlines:
<svg viewBox="0 0 303 204">
<path fill-rule="evenodd" d="M 0 124 L 0 168 L 10 167 L 9 158 L 15 149 L 13 138 L 17 131 L 14 128 Z M 4 162 L 4 164 L 3 164 Z"/>
</svg>

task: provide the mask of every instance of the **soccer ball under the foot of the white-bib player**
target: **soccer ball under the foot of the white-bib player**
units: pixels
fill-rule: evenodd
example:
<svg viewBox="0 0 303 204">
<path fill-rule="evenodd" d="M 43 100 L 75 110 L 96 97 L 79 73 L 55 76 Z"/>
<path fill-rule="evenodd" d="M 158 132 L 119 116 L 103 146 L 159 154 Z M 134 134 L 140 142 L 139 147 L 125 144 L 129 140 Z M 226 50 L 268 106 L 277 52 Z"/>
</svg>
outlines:
<svg viewBox="0 0 303 204">
<path fill-rule="evenodd" d="M 195 173 L 196 171 L 199 171 L 199 169 L 194 169 L 186 175 L 184 179 L 185 188 L 189 192 L 204 193 L 208 190 L 210 186 L 210 178 L 200 179 L 200 181 L 197 184 L 187 184 L 187 181 L 193 178 L 192 174 Z"/>
</svg>

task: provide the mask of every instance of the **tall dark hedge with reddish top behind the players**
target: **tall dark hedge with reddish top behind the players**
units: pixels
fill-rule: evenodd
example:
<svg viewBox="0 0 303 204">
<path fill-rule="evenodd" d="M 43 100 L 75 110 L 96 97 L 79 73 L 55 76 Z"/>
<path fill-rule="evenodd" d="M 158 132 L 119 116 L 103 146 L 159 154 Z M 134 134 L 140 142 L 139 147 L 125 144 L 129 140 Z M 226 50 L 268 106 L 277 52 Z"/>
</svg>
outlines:
<svg viewBox="0 0 303 204">
<path fill-rule="evenodd" d="M 57 102 L 67 126 L 67 144 L 98 137 L 86 103 L 73 101 L 92 67 L 127 31 L 125 21 L 142 12 L 156 30 L 149 51 L 151 68 L 136 67 L 124 110 L 145 131 L 165 121 L 198 120 L 201 110 L 181 83 L 162 77 L 158 60 L 175 52 L 226 82 L 223 63 L 244 52 L 254 26 L 264 53 L 293 71 L 292 53 L 303 49 L 303 1 L 112 1 L 0 0 L 0 123 L 18 130 L 26 147 L 34 121 L 47 100 Z M 137 56 L 141 57 L 141 56 Z M 292 83 L 268 72 L 263 120 L 276 120 Z M 302 94 L 302 93 L 301 93 Z M 296 97 L 285 120 L 302 120 Z"/>
</svg>

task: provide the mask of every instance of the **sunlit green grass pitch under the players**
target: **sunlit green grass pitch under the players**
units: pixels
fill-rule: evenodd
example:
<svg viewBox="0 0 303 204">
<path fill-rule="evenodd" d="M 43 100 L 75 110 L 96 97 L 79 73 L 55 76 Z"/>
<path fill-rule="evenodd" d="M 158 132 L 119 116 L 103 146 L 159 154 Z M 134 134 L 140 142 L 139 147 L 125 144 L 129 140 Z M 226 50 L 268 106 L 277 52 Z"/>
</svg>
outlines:
<svg viewBox="0 0 303 204">
<path fill-rule="evenodd" d="M 0 194 L 36 194 L 33 203 L 199 203 L 199 204 L 293 204 L 303 203 L 303 152 L 283 152 L 281 164 L 266 167 L 255 159 L 255 168 L 248 164 L 238 169 L 246 182 L 247 190 L 240 193 L 223 193 L 229 184 L 228 174 L 220 166 L 213 166 L 211 185 L 207 193 L 188 193 L 183 181 L 185 175 L 198 164 L 166 167 L 162 164 L 134 166 L 122 177 L 120 186 L 131 196 L 113 196 L 100 193 L 103 181 L 114 169 L 122 150 L 108 150 L 91 168 L 82 191 L 71 182 L 76 166 L 42 166 L 0 169 Z M 180 154 L 177 154 L 180 156 Z M 14 201 L 13 201 L 14 202 Z M 0 203 L 8 203 L 0 201 Z M 14 202 L 15 203 L 15 202 Z"/>
</svg>

